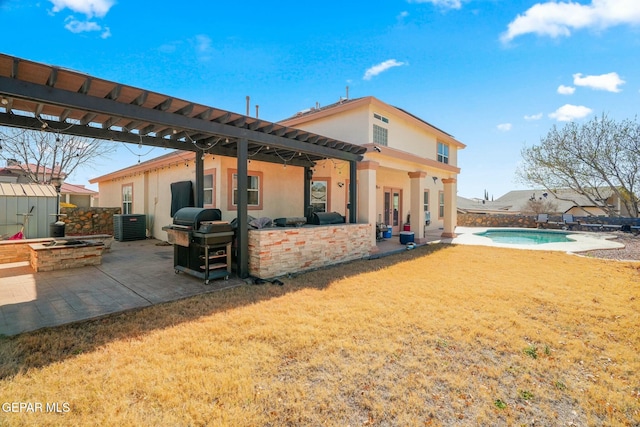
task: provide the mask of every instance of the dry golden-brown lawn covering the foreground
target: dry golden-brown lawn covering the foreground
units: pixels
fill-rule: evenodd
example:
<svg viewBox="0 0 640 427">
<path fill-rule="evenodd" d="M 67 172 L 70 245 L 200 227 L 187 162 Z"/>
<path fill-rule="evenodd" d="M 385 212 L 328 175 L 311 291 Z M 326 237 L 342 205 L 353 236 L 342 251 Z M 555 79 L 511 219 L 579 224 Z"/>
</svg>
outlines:
<svg viewBox="0 0 640 427">
<path fill-rule="evenodd" d="M 640 425 L 640 264 L 429 246 L 0 341 L 0 425 Z"/>
</svg>

